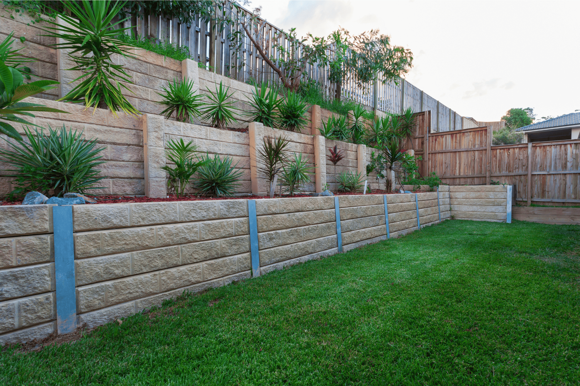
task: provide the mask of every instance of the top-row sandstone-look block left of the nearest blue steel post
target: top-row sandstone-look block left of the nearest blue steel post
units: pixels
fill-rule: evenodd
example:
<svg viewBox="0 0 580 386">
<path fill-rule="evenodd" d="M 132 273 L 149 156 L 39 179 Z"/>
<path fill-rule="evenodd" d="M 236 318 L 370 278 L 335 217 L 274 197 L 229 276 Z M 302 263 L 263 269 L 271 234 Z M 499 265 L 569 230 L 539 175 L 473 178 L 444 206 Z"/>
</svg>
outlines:
<svg viewBox="0 0 580 386">
<path fill-rule="evenodd" d="M 51 232 L 51 205 L 0 206 L 0 237 Z"/>
</svg>

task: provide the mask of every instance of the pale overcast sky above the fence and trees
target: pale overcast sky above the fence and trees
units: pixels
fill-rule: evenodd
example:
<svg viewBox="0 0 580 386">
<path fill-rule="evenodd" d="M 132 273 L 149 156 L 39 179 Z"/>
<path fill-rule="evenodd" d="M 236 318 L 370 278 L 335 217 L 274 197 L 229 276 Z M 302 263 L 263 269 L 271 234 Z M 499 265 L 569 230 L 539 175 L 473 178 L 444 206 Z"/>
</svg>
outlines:
<svg viewBox="0 0 580 386">
<path fill-rule="evenodd" d="M 264 1 L 262 16 L 299 36 L 379 28 L 414 53 L 409 82 L 463 116 L 499 120 L 580 109 L 578 1 Z"/>
</svg>

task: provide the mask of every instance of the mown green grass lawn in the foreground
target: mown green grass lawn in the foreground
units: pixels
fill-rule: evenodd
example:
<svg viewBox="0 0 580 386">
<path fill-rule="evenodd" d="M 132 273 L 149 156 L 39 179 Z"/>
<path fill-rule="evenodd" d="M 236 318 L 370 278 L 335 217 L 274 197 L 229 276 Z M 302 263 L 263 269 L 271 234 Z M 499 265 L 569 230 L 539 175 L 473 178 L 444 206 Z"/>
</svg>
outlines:
<svg viewBox="0 0 580 386">
<path fill-rule="evenodd" d="M 578 385 L 579 248 L 580 226 L 446 221 L 5 348 L 0 384 Z"/>
</svg>

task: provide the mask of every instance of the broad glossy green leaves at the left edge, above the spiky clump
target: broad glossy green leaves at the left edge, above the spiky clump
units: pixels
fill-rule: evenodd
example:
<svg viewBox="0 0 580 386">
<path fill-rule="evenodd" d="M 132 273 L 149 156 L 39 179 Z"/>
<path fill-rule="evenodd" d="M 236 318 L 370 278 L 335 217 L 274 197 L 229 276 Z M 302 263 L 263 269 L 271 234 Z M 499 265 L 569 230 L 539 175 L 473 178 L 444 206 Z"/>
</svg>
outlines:
<svg viewBox="0 0 580 386">
<path fill-rule="evenodd" d="M 20 102 L 24 98 L 54 89 L 55 87 L 50 85 L 59 84 L 59 82 L 55 80 L 37 80 L 36 82 L 28 84 L 23 84 L 23 82 L 24 78 L 18 69 L 8 67 L 0 61 L 0 133 L 19 141 L 22 140 L 22 137 L 18 131 L 11 124 L 3 121 L 37 126 L 16 115 L 34 117 L 31 111 L 66 113 L 66 111 L 53 109 L 45 105 Z"/>
</svg>

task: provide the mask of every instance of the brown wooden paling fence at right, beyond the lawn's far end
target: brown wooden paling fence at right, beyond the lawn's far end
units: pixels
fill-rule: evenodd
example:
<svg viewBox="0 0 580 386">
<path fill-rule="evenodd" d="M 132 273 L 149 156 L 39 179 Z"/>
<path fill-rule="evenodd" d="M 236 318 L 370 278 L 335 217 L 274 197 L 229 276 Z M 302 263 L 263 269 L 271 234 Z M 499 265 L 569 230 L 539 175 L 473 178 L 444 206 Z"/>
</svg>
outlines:
<svg viewBox="0 0 580 386">
<path fill-rule="evenodd" d="M 492 146 L 491 126 L 429 133 L 428 114 L 416 115 L 412 144 L 422 175 L 434 172 L 449 185 L 514 185 L 514 199 L 528 205 L 580 203 L 580 139 Z"/>
</svg>

